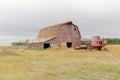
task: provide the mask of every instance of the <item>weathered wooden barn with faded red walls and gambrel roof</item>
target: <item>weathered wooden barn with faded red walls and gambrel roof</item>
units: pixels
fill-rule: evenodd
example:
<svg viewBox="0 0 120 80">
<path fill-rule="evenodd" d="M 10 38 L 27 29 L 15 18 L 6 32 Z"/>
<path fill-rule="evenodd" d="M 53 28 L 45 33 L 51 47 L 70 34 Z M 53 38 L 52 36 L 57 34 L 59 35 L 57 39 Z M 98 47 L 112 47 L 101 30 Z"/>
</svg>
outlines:
<svg viewBox="0 0 120 80">
<path fill-rule="evenodd" d="M 37 38 L 28 42 L 28 48 L 57 48 L 80 46 L 81 35 L 71 21 L 40 30 Z"/>
</svg>

